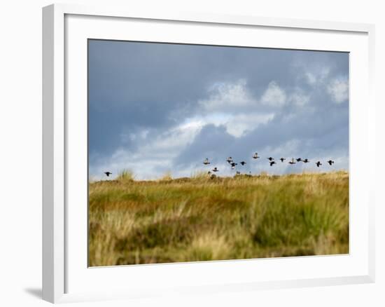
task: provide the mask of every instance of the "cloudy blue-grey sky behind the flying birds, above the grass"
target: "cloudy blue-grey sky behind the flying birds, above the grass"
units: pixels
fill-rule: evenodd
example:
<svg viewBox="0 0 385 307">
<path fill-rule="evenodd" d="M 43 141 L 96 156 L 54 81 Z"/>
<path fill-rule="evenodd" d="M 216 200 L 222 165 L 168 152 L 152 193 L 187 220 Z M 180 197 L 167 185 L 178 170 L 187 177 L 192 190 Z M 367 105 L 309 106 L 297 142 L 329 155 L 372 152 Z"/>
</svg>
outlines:
<svg viewBox="0 0 385 307">
<path fill-rule="evenodd" d="M 93 179 L 348 169 L 348 53 L 90 40 L 88 61 Z"/>
</svg>

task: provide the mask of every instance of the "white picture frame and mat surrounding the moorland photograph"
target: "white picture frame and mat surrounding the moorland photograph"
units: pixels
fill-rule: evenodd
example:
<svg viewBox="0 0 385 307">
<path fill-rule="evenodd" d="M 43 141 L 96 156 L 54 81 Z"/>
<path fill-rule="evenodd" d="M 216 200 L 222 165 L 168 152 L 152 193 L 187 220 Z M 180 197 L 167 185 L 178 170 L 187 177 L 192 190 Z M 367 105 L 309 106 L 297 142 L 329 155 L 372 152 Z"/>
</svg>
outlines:
<svg viewBox="0 0 385 307">
<path fill-rule="evenodd" d="M 154 22 L 158 22 L 156 27 Z M 87 161 L 85 40 L 127 39 L 130 27 L 136 29 L 132 40 L 246 46 L 246 35 L 241 34 L 253 33 L 261 35 L 260 47 L 341 50 L 353 55 L 349 79 L 353 200 L 349 255 L 87 268 L 87 174 L 82 172 Z M 223 29 L 225 36 L 221 36 Z M 214 34 L 217 41 L 212 39 Z M 255 42 L 250 44 L 255 46 Z M 43 299 L 59 303 L 374 282 L 374 169 L 360 163 L 365 156 L 374 159 L 373 75 L 373 25 L 206 13 L 160 14 L 72 4 L 43 8 Z M 75 155 L 73 149 L 80 154 Z M 256 268 L 258 274 L 248 274 Z M 130 277 L 137 279 L 130 282 L 128 270 Z M 120 282 L 125 276 L 127 280 Z"/>
</svg>

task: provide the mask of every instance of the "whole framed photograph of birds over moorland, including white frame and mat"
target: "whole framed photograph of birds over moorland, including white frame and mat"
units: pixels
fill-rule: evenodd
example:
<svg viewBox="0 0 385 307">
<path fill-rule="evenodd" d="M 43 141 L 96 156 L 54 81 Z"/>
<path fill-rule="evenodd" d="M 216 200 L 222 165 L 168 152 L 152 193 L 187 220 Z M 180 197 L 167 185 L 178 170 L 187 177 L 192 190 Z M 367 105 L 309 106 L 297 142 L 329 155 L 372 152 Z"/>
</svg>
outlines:
<svg viewBox="0 0 385 307">
<path fill-rule="evenodd" d="M 374 282 L 373 44 L 43 8 L 43 299 Z"/>
</svg>

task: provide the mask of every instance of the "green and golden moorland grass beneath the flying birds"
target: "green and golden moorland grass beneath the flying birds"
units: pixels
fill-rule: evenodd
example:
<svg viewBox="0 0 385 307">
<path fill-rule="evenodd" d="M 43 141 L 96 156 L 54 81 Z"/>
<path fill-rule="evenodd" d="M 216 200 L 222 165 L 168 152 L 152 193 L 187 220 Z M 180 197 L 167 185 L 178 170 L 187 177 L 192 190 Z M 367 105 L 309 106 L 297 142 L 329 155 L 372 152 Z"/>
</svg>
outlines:
<svg viewBox="0 0 385 307">
<path fill-rule="evenodd" d="M 89 264 L 349 252 L 346 172 L 90 182 Z"/>
</svg>

